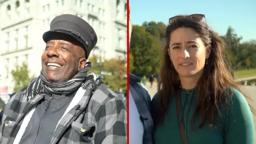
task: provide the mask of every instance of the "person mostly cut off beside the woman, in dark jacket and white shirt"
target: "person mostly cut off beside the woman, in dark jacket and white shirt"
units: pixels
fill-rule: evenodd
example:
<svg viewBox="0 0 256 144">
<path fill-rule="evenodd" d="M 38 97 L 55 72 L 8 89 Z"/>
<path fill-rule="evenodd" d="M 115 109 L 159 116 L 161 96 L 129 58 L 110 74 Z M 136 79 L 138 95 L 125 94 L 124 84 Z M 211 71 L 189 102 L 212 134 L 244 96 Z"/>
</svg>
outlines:
<svg viewBox="0 0 256 144">
<path fill-rule="evenodd" d="M 130 13 L 130 7 L 129 7 Z M 129 19 L 129 43 L 132 23 Z M 151 144 L 153 142 L 153 119 L 151 98 L 141 78 L 129 74 L 129 143 Z"/>
</svg>

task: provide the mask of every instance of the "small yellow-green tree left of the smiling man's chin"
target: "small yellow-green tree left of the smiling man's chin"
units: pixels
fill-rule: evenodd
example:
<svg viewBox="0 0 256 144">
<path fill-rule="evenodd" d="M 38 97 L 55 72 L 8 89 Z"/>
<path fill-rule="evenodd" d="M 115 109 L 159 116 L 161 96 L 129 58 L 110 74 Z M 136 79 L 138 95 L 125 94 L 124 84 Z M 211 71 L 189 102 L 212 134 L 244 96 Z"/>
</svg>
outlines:
<svg viewBox="0 0 256 144">
<path fill-rule="evenodd" d="M 14 81 L 14 92 L 17 92 L 27 86 L 30 80 L 34 77 L 29 77 L 29 70 L 26 62 L 22 62 L 21 66 L 16 65 L 15 69 L 11 71 L 11 74 Z"/>
</svg>

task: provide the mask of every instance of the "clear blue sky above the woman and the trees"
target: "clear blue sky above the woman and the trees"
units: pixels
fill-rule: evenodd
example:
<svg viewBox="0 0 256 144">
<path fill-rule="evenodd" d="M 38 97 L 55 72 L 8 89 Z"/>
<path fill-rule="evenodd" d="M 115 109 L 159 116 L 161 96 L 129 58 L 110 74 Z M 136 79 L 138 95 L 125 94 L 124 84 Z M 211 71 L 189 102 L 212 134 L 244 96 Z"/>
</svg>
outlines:
<svg viewBox="0 0 256 144">
<path fill-rule="evenodd" d="M 162 21 L 179 14 L 205 14 L 207 24 L 220 35 L 231 26 L 243 41 L 256 39 L 255 0 L 130 0 L 133 25 Z"/>
</svg>

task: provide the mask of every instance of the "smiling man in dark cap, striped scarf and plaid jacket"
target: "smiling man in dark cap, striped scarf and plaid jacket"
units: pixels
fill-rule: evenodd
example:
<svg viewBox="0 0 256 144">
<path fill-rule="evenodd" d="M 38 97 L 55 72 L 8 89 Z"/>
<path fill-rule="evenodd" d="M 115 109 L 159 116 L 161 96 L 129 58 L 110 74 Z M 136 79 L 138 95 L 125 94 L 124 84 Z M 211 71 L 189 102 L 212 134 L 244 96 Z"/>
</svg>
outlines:
<svg viewBox="0 0 256 144">
<path fill-rule="evenodd" d="M 87 74 L 94 29 L 63 14 L 43 40 L 41 75 L 5 106 L 0 143 L 126 143 L 126 99 Z"/>
</svg>

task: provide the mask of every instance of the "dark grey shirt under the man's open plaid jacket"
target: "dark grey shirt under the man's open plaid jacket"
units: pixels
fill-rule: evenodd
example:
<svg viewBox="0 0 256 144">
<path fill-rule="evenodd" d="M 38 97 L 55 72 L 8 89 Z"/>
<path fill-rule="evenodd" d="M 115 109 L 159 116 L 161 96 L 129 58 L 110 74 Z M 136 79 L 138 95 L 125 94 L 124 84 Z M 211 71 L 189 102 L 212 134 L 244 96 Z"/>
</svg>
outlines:
<svg viewBox="0 0 256 144">
<path fill-rule="evenodd" d="M 68 97 L 66 95 L 42 94 L 44 100 L 36 107 L 20 143 L 50 143 L 60 118 L 74 96 L 75 93 L 68 95 Z"/>
</svg>

